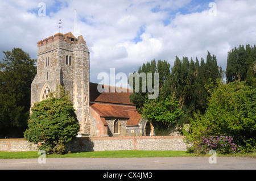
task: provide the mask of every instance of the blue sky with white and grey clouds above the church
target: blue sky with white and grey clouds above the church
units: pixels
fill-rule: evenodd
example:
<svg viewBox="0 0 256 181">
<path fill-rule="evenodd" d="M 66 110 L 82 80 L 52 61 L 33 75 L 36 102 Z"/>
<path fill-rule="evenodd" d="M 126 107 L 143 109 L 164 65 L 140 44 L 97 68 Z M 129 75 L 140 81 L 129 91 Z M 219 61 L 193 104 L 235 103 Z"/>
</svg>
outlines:
<svg viewBox="0 0 256 181">
<path fill-rule="evenodd" d="M 44 15 L 42 11 L 45 6 Z M 147 61 L 203 57 L 226 68 L 230 49 L 256 44 L 256 1 L 0 0 L 2 51 L 22 48 L 37 57 L 37 42 L 59 32 L 82 35 L 90 50 L 90 81 L 101 72 L 127 74 Z M 118 80 L 117 80 L 118 82 Z"/>
</svg>

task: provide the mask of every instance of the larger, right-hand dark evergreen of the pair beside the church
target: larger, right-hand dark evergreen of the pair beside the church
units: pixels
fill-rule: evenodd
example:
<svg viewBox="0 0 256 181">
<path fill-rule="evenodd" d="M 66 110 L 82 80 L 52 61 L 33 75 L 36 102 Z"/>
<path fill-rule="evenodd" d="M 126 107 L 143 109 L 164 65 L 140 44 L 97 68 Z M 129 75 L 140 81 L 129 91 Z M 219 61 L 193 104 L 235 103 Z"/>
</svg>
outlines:
<svg viewBox="0 0 256 181">
<path fill-rule="evenodd" d="M 203 58 L 201 61 L 196 58 L 196 62 L 183 57 L 180 60 L 176 56 L 174 66 L 171 68 L 170 79 L 165 84 L 165 95 L 172 95 L 183 105 L 184 115 L 180 117 L 180 123 L 185 123 L 194 112 L 204 113 L 207 108 L 209 85 L 216 85 L 216 79 L 221 78 L 223 71 L 221 66 L 217 65 L 216 56 L 207 54 L 207 61 Z M 171 87 L 171 89 L 170 89 Z"/>
</svg>

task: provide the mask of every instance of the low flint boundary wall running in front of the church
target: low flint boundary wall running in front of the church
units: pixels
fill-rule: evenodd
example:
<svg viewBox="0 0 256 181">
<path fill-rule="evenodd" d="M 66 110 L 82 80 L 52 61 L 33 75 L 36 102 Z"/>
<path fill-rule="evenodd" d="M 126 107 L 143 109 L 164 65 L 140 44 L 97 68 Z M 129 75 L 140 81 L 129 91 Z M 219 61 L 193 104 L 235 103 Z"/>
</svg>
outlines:
<svg viewBox="0 0 256 181">
<path fill-rule="evenodd" d="M 67 151 L 105 150 L 187 150 L 184 136 L 90 137 L 76 138 Z M 0 151 L 38 151 L 24 139 L 0 139 Z"/>
</svg>

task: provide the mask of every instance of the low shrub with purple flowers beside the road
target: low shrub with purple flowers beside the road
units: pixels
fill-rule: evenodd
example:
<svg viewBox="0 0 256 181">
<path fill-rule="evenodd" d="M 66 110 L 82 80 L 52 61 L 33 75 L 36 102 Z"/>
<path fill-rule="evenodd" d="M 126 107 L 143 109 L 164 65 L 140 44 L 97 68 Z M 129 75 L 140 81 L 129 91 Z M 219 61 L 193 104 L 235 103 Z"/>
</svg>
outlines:
<svg viewBox="0 0 256 181">
<path fill-rule="evenodd" d="M 209 150 L 215 150 L 219 154 L 229 154 L 238 152 L 239 148 L 231 136 L 202 136 L 201 142 L 195 142 L 194 152 L 208 154 Z"/>
</svg>

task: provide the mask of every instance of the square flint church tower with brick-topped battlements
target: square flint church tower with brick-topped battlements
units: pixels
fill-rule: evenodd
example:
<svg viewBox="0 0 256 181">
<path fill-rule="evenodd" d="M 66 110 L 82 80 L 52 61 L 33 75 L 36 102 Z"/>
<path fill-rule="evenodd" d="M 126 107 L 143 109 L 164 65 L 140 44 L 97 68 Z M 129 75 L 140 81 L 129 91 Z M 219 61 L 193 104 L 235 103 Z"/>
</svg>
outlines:
<svg viewBox="0 0 256 181">
<path fill-rule="evenodd" d="M 31 85 L 31 106 L 47 99 L 57 85 L 71 94 L 80 133 L 90 133 L 89 50 L 82 36 L 56 33 L 38 42 L 38 69 Z"/>
</svg>

